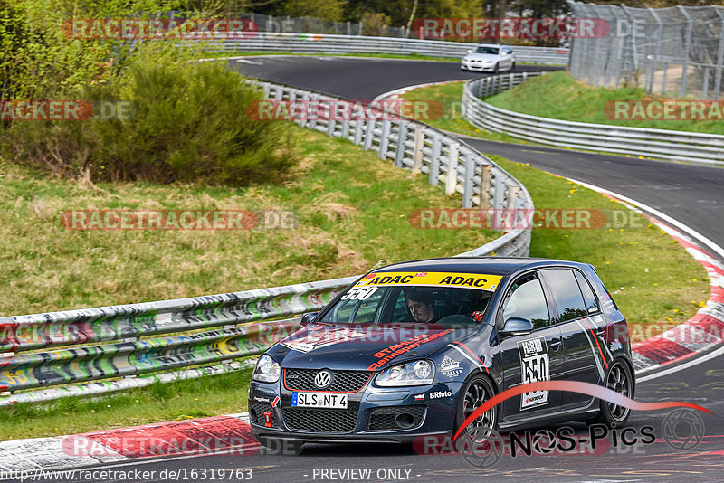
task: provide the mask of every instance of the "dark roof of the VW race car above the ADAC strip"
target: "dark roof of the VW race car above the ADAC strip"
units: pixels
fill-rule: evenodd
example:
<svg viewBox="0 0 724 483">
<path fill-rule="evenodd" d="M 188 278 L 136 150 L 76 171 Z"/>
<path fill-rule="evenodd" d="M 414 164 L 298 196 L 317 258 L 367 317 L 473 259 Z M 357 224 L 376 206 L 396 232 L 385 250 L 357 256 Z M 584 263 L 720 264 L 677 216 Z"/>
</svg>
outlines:
<svg viewBox="0 0 724 483">
<path fill-rule="evenodd" d="M 567 266 L 586 267 L 586 263 L 567 260 L 513 257 L 447 257 L 425 260 L 402 261 L 386 267 L 372 270 L 375 273 L 385 271 L 451 271 L 461 273 L 486 273 L 490 275 L 508 275 L 509 273 L 536 267 Z"/>
</svg>

